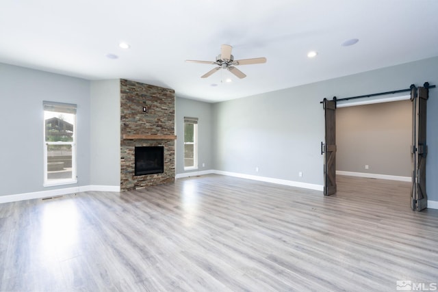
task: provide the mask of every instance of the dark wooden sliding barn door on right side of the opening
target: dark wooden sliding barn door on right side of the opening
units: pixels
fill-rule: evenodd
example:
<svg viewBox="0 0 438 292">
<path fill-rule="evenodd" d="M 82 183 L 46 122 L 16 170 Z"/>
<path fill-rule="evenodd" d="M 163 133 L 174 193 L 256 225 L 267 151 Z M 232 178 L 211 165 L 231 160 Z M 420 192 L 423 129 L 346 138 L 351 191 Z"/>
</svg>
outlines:
<svg viewBox="0 0 438 292">
<path fill-rule="evenodd" d="M 411 207 L 422 211 L 427 208 L 426 195 L 426 102 L 428 88 L 411 86 L 412 101 L 412 188 Z"/>
</svg>

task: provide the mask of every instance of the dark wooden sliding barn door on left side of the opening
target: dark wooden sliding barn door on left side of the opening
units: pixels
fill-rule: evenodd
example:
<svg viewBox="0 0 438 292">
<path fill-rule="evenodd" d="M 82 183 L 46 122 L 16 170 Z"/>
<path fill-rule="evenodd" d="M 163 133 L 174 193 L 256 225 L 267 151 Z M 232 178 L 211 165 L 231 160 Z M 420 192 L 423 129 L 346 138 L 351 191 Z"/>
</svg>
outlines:
<svg viewBox="0 0 438 292">
<path fill-rule="evenodd" d="M 324 153 L 324 195 L 336 193 L 336 98 L 322 103 L 325 112 L 325 145 L 321 145 Z"/>
</svg>

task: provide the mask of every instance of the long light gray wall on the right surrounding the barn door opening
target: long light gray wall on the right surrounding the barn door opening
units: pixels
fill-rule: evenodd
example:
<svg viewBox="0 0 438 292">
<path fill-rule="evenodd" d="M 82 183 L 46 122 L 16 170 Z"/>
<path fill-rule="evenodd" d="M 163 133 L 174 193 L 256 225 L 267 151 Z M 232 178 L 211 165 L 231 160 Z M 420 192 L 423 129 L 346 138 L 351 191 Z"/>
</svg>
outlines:
<svg viewBox="0 0 438 292">
<path fill-rule="evenodd" d="M 217 170 L 322 185 L 320 142 L 324 140 L 323 98 L 343 98 L 438 85 L 438 57 L 357 75 L 216 103 L 214 166 Z M 298 70 L 298 69 L 297 69 Z M 438 89 L 428 100 L 427 192 L 438 200 Z M 259 172 L 255 172 L 255 167 Z M 302 171 L 303 176 L 298 177 Z"/>
</svg>

